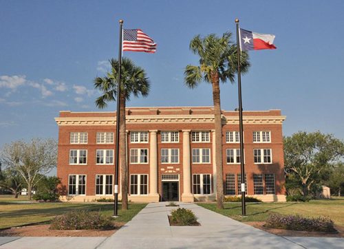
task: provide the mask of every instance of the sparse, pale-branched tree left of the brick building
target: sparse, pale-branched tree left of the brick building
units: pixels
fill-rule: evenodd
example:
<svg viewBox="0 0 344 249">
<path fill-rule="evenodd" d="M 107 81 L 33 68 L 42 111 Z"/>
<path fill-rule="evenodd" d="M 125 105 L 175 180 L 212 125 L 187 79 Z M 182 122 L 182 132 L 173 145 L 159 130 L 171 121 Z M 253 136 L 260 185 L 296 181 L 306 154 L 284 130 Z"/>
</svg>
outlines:
<svg viewBox="0 0 344 249">
<path fill-rule="evenodd" d="M 43 175 L 56 167 L 57 143 L 55 140 L 34 138 L 30 142 L 16 141 L 6 144 L 1 151 L 1 162 L 8 172 L 19 174 L 28 186 L 28 197 L 32 188 Z"/>
</svg>

